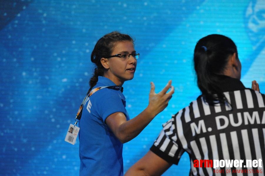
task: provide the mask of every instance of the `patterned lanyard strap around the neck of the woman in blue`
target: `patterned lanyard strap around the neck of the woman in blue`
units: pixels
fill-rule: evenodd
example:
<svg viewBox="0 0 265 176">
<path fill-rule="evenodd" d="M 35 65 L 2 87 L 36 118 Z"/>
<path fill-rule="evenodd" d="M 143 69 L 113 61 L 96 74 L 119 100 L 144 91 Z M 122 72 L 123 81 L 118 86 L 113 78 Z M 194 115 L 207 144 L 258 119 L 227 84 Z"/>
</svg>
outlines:
<svg viewBox="0 0 265 176">
<path fill-rule="evenodd" d="M 87 101 L 87 99 L 94 94 L 96 91 L 103 89 L 103 88 L 108 88 L 108 89 L 114 89 L 114 90 L 120 90 L 121 92 L 123 92 L 123 87 L 121 86 L 102 86 L 102 87 L 96 87 L 94 89 L 92 89 L 90 92 L 88 92 L 86 94 L 86 97 L 84 98 L 84 100 L 82 101 L 82 104 L 80 105 L 77 114 L 76 114 L 76 118 L 74 119 L 76 122 L 74 123 L 74 126 L 76 126 L 77 122 L 80 121 L 81 116 L 82 116 L 82 111 L 83 111 L 83 107 L 85 102 Z"/>
</svg>

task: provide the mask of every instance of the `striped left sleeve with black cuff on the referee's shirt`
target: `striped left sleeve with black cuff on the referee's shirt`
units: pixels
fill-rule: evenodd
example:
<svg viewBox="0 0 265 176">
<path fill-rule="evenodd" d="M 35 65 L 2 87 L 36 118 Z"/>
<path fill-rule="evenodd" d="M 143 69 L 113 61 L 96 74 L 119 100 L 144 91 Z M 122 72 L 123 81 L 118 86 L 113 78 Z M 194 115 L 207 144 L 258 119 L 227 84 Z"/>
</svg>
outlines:
<svg viewBox="0 0 265 176">
<path fill-rule="evenodd" d="M 172 117 L 163 124 L 162 130 L 150 150 L 167 162 L 177 165 L 184 150 L 177 143 L 174 121 L 175 118 Z"/>
</svg>

